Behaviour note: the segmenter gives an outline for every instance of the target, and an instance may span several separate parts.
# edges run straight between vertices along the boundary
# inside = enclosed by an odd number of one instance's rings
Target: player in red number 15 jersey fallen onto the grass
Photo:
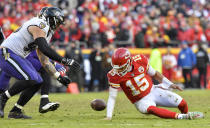
[[[113,69],[107,74],[110,88],[105,119],[112,119],[117,88],[119,87],[141,113],[171,119],[204,117],[201,112],[188,112],[186,101],[176,93],[169,91],[169,88],[180,91],[182,89],[155,71],[144,55],[131,56],[128,49],[118,48],[112,55],[111,64]],[[151,78],[158,80],[160,84],[153,85]],[[181,113],[156,106],[177,107]]]

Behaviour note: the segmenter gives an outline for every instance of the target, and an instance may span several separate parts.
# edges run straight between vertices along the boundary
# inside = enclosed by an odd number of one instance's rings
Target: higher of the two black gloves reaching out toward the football
[[[63,58],[61,63],[64,64],[65,66],[69,66],[69,68],[74,71],[80,70],[80,64],[74,59]]]

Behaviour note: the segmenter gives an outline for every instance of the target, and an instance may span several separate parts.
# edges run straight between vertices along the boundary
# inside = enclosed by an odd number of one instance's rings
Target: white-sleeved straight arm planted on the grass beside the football
[[[111,120],[112,119],[112,114],[114,111],[114,105],[117,97],[117,89],[113,87],[109,87],[109,98],[107,101],[107,112],[106,112],[106,119]]]

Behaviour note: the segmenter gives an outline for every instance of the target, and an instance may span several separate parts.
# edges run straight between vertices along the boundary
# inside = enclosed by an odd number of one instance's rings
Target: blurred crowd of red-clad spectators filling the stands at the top
[[[72,0],[74,1],[74,0]],[[133,47],[178,46],[210,42],[210,2],[207,0],[68,0],[52,4],[63,9],[66,25],[54,35],[60,45],[81,41],[92,48],[126,42]],[[78,1],[77,1],[78,2]],[[8,36],[23,22],[37,15],[50,0],[0,0],[0,25]]]

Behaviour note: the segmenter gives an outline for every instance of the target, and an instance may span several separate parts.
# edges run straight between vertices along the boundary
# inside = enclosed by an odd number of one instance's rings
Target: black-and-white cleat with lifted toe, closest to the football
[[[59,106],[60,106],[60,104],[59,103],[47,103],[47,104],[45,104],[44,106],[40,106],[39,107],[39,112],[40,113],[46,113],[46,112],[48,112],[48,111],[55,111],[56,109],[58,109],[59,108]]]

